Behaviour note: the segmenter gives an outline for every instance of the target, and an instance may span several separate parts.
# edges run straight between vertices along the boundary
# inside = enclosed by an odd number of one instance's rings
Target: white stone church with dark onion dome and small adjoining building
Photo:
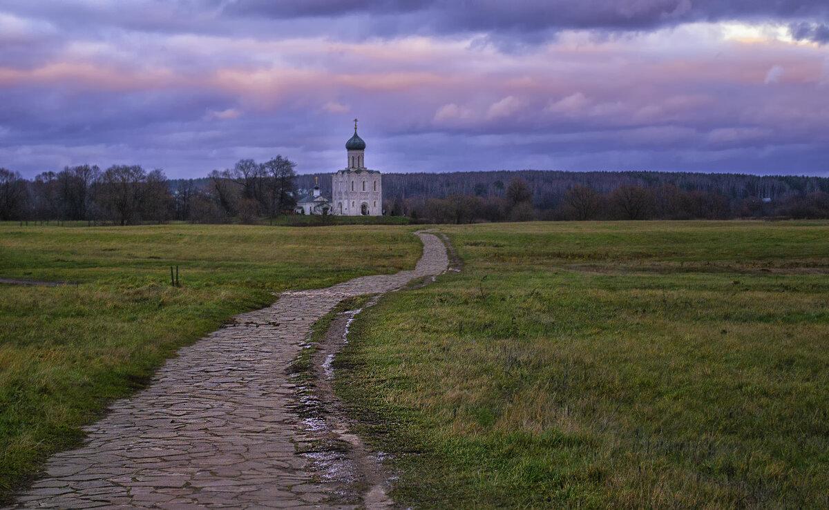
[[[379,171],[366,168],[366,142],[357,135],[346,142],[348,166],[332,176],[331,200],[320,195],[319,185],[313,193],[297,200],[296,214],[338,214],[342,216],[380,216],[383,214],[383,181]]]

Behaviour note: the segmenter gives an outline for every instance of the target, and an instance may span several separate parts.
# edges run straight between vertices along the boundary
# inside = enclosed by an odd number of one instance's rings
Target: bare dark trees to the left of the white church
[[[293,213],[296,163],[282,156],[238,161],[206,178],[168,180],[141,166],[66,166],[32,180],[0,168],[0,220],[81,220],[90,224],[253,222]]]

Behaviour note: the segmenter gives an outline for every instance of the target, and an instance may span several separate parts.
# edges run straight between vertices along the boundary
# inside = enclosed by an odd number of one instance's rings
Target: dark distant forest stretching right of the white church
[[[829,179],[652,171],[384,174],[383,199],[387,214],[434,223],[829,218]]]

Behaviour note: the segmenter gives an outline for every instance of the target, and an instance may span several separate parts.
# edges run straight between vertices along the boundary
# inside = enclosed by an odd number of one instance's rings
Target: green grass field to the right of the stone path
[[[337,391],[417,508],[825,508],[829,223],[444,228]]]

